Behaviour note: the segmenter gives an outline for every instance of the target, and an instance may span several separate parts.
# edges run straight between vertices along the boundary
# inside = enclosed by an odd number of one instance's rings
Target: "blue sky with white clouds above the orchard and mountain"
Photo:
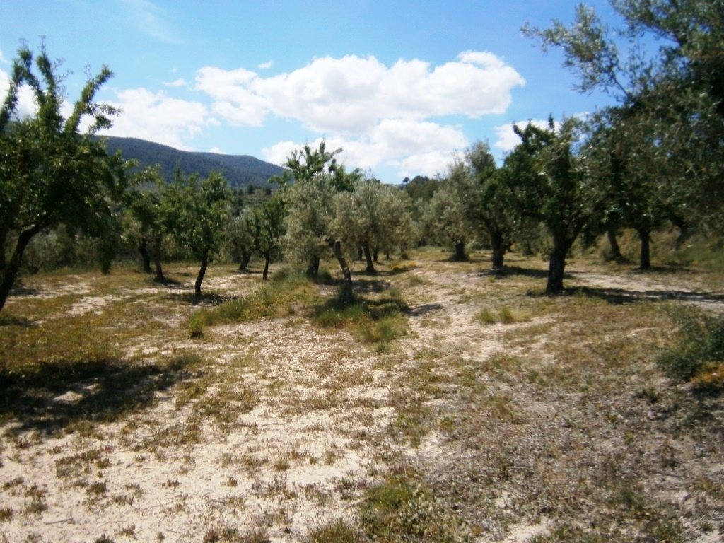
[[[399,183],[444,175],[477,140],[502,159],[513,123],[610,103],[521,34],[570,23],[578,1],[0,0],[0,96],[22,43],[45,43],[69,104],[88,74],[114,72],[96,95],[122,110],[105,135],[280,165],[324,140]]]

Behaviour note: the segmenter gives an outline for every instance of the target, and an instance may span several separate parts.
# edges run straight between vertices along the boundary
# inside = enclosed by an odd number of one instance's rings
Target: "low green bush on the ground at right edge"
[[[724,316],[710,315],[691,306],[675,308],[678,327],[674,344],[663,350],[658,363],[675,379],[689,380],[697,374],[712,374],[724,362]],[[707,383],[706,376],[699,382]],[[710,382],[715,384],[715,380]],[[718,386],[718,385],[717,385]]]

